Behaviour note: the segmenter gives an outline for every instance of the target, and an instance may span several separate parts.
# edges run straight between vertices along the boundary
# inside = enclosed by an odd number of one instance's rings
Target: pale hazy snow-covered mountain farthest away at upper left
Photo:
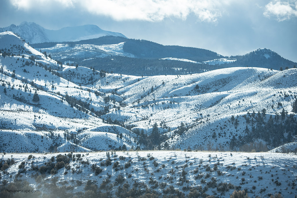
[[[29,43],[80,41],[101,36],[121,36],[126,38],[121,33],[105,31],[97,25],[81,25],[65,27],[59,30],[48,30],[36,23],[24,21],[18,26],[12,24],[8,27],[0,28],[0,32],[5,31],[15,32]]]

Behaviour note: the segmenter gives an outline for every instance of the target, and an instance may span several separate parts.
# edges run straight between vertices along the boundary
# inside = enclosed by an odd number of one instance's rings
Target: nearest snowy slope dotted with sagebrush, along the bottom
[[[18,195],[3,190],[13,188],[39,190],[38,197],[230,197],[239,190],[249,197],[297,194],[297,159],[290,154],[127,151],[6,154],[0,160],[12,158],[1,176],[8,183],[1,186],[1,197]]]

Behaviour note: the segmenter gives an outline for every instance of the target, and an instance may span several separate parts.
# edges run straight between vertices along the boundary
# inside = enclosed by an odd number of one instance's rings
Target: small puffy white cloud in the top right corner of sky
[[[278,21],[297,17],[297,0],[294,1],[271,1],[265,6],[264,16],[275,16]]]

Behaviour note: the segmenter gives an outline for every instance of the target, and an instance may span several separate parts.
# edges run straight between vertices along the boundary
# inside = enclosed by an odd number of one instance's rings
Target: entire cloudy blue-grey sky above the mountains
[[[0,27],[94,24],[128,38],[242,55],[269,48],[297,62],[297,0],[0,0]]]

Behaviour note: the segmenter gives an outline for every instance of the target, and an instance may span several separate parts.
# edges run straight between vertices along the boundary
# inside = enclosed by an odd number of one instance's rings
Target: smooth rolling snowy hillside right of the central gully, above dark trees
[[[283,108],[292,111],[296,75],[297,69],[226,68],[185,76],[149,76],[135,82],[134,76],[129,81],[128,76],[108,74],[105,77],[108,84],[101,80],[95,86],[102,92],[114,87],[128,104],[120,110],[111,109],[102,116],[105,119],[119,120],[135,130],[148,132],[157,123],[160,132],[168,136],[169,147],[207,149],[211,142],[212,149],[228,150],[234,133],[244,137],[246,125],[252,130],[252,124],[247,124],[243,117],[247,112],[257,113],[265,108],[264,119],[268,120]],[[125,84],[116,80],[124,77]],[[230,122],[232,115],[238,116],[238,126]],[[187,129],[178,135],[181,123]],[[212,138],[214,131],[223,136]]]

